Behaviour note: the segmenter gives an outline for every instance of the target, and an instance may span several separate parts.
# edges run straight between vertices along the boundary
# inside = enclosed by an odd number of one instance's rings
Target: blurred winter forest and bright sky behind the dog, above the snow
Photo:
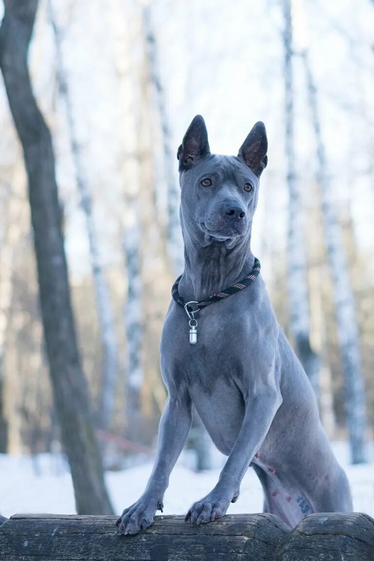
[[[176,153],[201,113],[215,153],[236,154],[265,122],[252,251],[329,437],[350,440],[352,461],[365,461],[374,2],[4,0],[0,9],[0,453],[62,447],[76,499],[80,438],[95,450],[97,440],[108,469],[152,454],[165,401],[160,331],[183,270]],[[62,315],[69,295],[75,328]],[[198,419],[188,445],[197,468],[209,467]],[[95,511],[83,503],[80,512]]]

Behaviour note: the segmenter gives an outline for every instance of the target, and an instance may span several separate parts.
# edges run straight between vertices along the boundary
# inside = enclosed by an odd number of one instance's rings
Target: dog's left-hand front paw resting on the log
[[[119,534],[138,534],[153,525],[157,510],[163,512],[161,500],[150,499],[147,496],[141,498],[131,507],[125,508],[116,521]]]

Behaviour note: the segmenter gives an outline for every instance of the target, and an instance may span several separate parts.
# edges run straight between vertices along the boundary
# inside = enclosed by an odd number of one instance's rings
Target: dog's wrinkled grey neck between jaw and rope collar
[[[250,274],[255,263],[250,242],[250,233],[232,248],[223,242],[202,246],[185,239],[184,272],[179,282],[184,301],[204,300]]]

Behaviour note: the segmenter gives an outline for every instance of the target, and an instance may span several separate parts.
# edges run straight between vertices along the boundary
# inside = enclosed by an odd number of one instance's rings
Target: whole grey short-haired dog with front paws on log
[[[251,273],[253,214],[267,164],[265,126],[253,126],[237,157],[210,153],[196,116],[178,149],[185,302],[208,298]],[[264,489],[264,510],[290,526],[312,512],[352,511],[347,476],[318,417],[310,382],[276,321],[258,276],[240,292],[200,310],[197,343],[188,317],[170,304],[161,338],[168,399],[153,472],[140,499],[117,520],[122,534],[149,527],[163,508],[169,475],[198,414],[227,462],[213,490],[186,515],[191,523],[223,516],[248,466]],[[194,324],[193,324],[194,325]]]

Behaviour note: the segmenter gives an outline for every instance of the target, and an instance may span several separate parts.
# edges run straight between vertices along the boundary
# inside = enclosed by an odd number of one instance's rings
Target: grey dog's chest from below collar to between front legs
[[[242,426],[246,396],[271,365],[265,348],[274,320],[248,306],[244,294],[235,295],[199,312],[192,345],[187,315],[177,307],[170,311],[161,343],[166,381],[177,390],[187,386],[213,442],[227,454]]]

